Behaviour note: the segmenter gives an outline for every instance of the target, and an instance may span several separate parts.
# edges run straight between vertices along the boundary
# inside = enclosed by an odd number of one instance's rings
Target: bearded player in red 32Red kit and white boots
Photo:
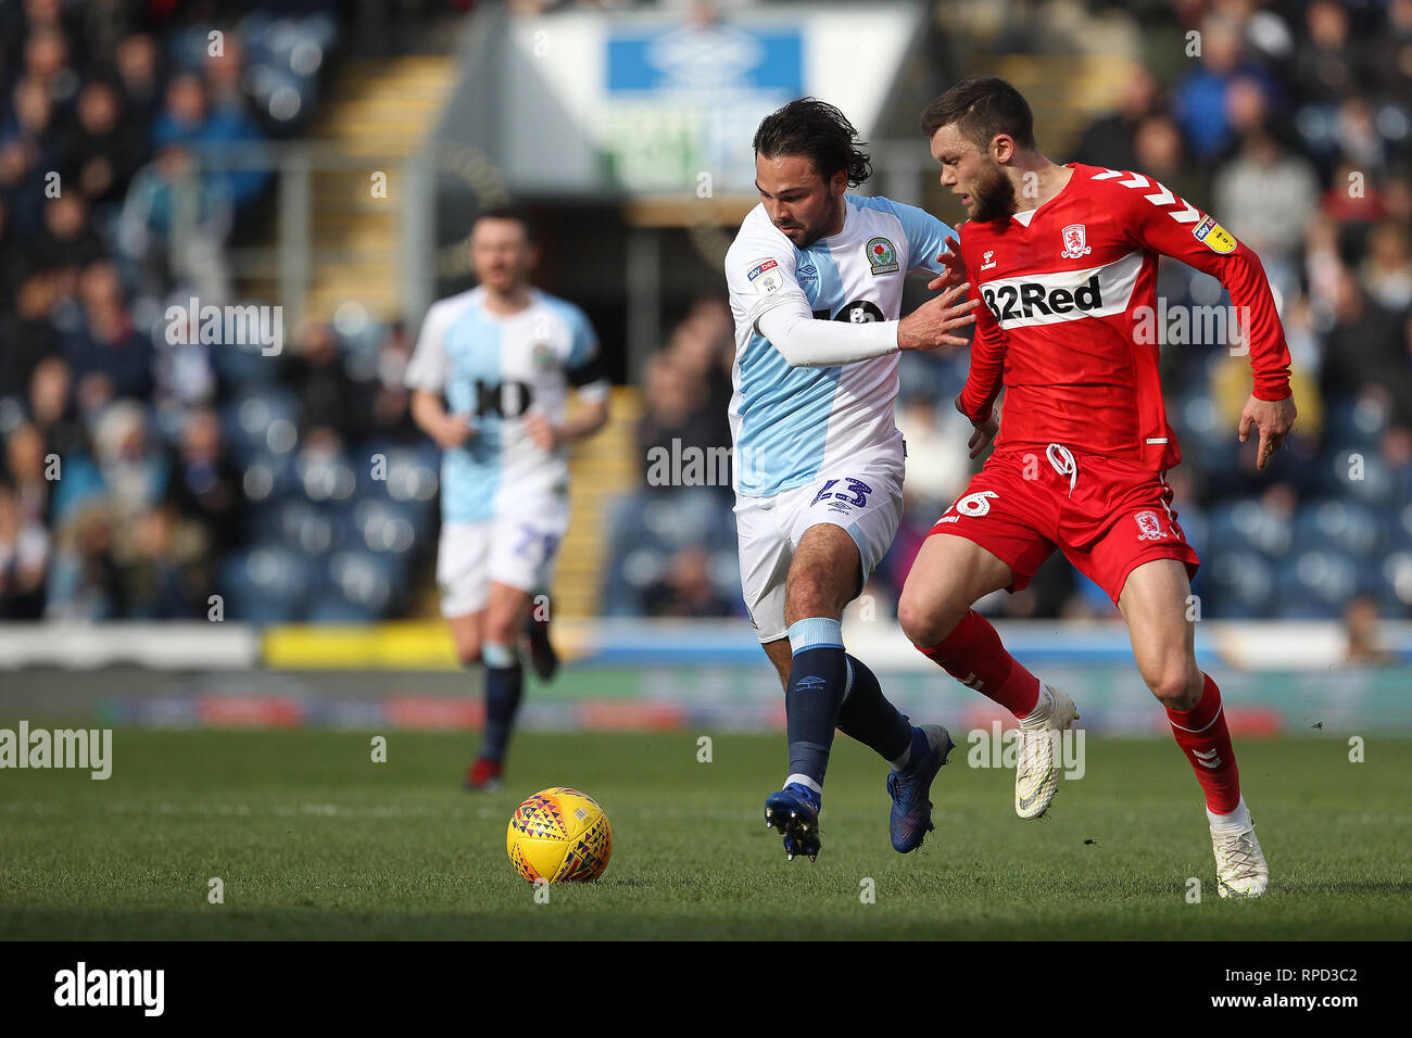
[[[912,643],[1019,719],[1015,811],[1053,799],[1053,743],[1073,700],[1014,660],[971,604],[1029,583],[1058,547],[1117,604],[1138,669],[1166,708],[1206,794],[1221,897],[1258,897],[1269,869],[1240,791],[1220,689],[1196,664],[1189,614],[1196,552],[1165,473],[1180,460],[1162,407],[1158,346],[1134,325],[1155,306],[1158,256],[1230,292],[1254,369],[1240,419],[1265,466],[1295,419],[1289,352],[1255,254],[1210,216],[1141,174],[1070,162],[1035,147],[1025,99],[990,76],[928,106],[922,131],[942,185],[970,213],[960,230],[976,311],[970,374],[956,407],[976,458],[1004,429],[966,493],[938,520],[898,603]],[[1147,308],[1147,309],[1144,309]]]

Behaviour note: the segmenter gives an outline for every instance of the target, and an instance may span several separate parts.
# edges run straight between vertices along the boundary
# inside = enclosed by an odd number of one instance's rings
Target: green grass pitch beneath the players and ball
[[[0,938],[1176,938],[1406,939],[1412,743],[1240,743],[1274,871],[1216,895],[1190,768],[1166,740],[1090,739],[1052,818],[1012,813],[1011,771],[966,747],[933,787],[938,829],[888,843],[887,767],[840,739],[816,863],[767,832],[782,736],[521,736],[510,788],[457,782],[473,737],[114,733],[113,777],[0,771]],[[514,806],[575,785],[607,809],[613,861],[548,904],[505,857]],[[1203,902],[1185,900],[1187,877]],[[225,904],[208,902],[208,880]],[[860,901],[864,878],[875,904]]]

